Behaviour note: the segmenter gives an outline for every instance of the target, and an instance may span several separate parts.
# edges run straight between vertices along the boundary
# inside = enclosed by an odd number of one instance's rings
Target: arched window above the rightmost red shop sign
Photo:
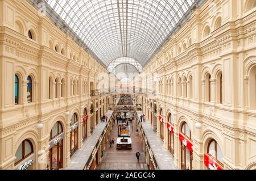
[[[207,154],[223,166],[223,154],[217,141],[211,140],[208,144]]]

